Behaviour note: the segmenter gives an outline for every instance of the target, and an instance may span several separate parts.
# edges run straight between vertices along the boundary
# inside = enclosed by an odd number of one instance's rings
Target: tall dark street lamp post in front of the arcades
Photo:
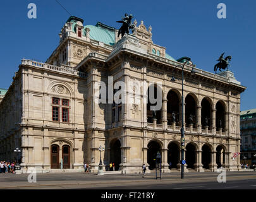
[[[184,150],[185,150],[185,135],[184,135],[184,114],[183,114],[183,107],[184,107],[184,98],[183,98],[183,94],[184,94],[184,90],[183,90],[183,80],[184,80],[184,66],[187,62],[191,62],[190,58],[188,58],[188,60],[183,64],[183,66],[181,66],[180,64],[178,64],[176,67],[180,66],[182,68],[182,95],[181,95],[181,179],[184,178]],[[193,63],[192,63],[192,67]],[[174,69],[175,69],[174,68]],[[195,73],[195,71],[192,68],[191,71],[192,74]],[[175,81],[174,76],[172,76],[171,81]]]

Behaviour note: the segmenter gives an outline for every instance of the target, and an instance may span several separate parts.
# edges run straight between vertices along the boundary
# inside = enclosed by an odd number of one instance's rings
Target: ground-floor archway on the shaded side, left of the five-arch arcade
[[[112,140],[110,143],[110,162],[114,163],[114,170],[119,170],[121,163],[121,143],[119,140]]]

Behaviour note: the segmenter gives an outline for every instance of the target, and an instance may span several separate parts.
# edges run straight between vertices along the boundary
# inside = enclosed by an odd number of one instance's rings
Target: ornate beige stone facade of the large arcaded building
[[[169,162],[171,169],[180,169],[181,68],[176,66],[183,64],[152,42],[151,27],[145,28],[143,21],[135,25],[133,35],[122,39],[114,30],[115,44],[107,45],[91,39],[92,30],[82,21],[70,20],[46,63],[23,59],[0,104],[1,159],[15,158],[18,146],[22,172],[59,169],[61,162],[64,169],[74,170],[82,170],[88,162],[91,172],[97,172],[103,146],[104,170],[115,162],[124,174],[138,173],[145,163],[150,172],[155,151],[161,152],[163,172],[170,172]],[[79,28],[86,32],[80,35]],[[231,157],[240,151],[240,93],[245,87],[234,82],[233,74],[224,77],[194,68],[192,75],[191,70],[190,65],[184,68],[186,166],[197,171],[238,170],[239,158]],[[176,81],[171,81],[173,75]],[[157,119],[143,102],[145,88],[126,92],[125,99],[135,103],[97,104],[97,85],[99,81],[110,85],[109,76],[113,84],[123,81],[126,86],[130,81],[161,82]],[[170,118],[173,109],[175,122]],[[188,122],[190,114],[193,122]]]

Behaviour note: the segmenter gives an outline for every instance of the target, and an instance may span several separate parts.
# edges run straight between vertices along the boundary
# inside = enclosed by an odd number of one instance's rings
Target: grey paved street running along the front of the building
[[[0,174],[0,189],[256,189],[256,172],[227,172],[226,183],[217,182],[217,172],[95,175],[82,173],[37,174],[29,183],[28,174]]]

